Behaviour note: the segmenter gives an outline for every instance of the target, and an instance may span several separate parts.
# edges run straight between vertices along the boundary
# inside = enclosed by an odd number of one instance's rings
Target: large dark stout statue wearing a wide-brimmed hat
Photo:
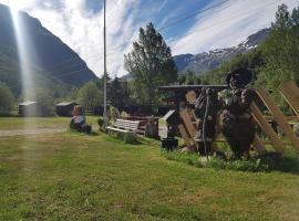
[[[255,138],[255,123],[250,115],[250,104],[255,92],[245,86],[251,81],[251,73],[238,69],[227,75],[229,92],[219,94],[221,104],[220,129],[226,137],[235,158],[249,155]]]

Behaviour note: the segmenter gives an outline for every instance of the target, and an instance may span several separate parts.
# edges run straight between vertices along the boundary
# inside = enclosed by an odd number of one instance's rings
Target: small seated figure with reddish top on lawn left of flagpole
[[[87,125],[85,123],[85,116],[83,115],[83,108],[80,105],[74,106],[73,118],[71,119],[70,128],[75,129],[78,131],[91,134],[91,125]]]

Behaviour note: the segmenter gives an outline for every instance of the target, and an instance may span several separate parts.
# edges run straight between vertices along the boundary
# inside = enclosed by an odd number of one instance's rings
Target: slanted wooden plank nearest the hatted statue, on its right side
[[[270,139],[271,145],[277,151],[283,152],[283,144],[279,139],[276,131],[272,129],[272,127],[268,124],[268,122],[264,118],[262,113],[258,108],[255,102],[250,105],[251,115],[259,125],[259,127],[262,129],[262,131],[267,135],[267,137]]]

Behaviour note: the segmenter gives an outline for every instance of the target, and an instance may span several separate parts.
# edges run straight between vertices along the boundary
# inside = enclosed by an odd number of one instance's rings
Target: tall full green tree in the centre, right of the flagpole
[[[157,86],[177,80],[171,48],[156,32],[153,23],[140,29],[138,41],[133,42],[132,52],[124,56],[124,67],[133,74],[136,98],[151,107],[158,102]]]

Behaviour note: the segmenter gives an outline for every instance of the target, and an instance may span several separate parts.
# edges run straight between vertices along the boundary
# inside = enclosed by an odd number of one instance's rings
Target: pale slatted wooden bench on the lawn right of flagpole
[[[136,134],[140,122],[127,119],[115,119],[112,126],[106,127],[111,131],[120,131],[126,134]]]

